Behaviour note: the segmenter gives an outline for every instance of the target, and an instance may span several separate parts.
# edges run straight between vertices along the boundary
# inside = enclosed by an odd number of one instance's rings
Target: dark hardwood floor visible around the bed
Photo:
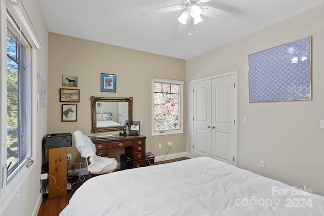
[[[165,160],[165,161],[160,161],[160,162],[154,162],[154,165],[158,164],[163,164],[163,163],[171,163],[175,161],[180,161],[180,160],[186,160],[189,159],[188,157],[181,157],[181,158],[176,158],[172,160]],[[86,180],[88,180],[88,175],[85,176]],[[70,198],[72,197],[73,193],[85,182],[81,181],[75,185],[72,186],[73,191],[68,190],[66,194],[59,196],[59,197],[54,197],[49,199],[48,195],[43,195],[43,200],[41,207],[39,207],[38,210],[38,216],[57,216],[59,213],[65,208],[65,206],[69,203]],[[75,183],[77,180],[72,180],[69,181],[70,183]]]

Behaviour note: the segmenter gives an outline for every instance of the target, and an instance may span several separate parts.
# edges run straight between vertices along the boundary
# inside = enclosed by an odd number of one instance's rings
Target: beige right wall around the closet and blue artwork
[[[191,81],[238,70],[237,165],[324,195],[324,5],[242,37],[187,61]],[[248,55],[312,36],[311,101],[249,103]],[[187,98],[187,151],[191,150],[191,98]],[[248,116],[249,122],[243,123]],[[265,168],[259,161],[265,161]]]

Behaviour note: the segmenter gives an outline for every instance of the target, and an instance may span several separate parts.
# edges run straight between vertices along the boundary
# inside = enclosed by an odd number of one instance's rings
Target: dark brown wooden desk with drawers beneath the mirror
[[[113,139],[91,139],[96,146],[98,156],[108,156],[108,151],[112,148],[125,148],[125,153],[133,159],[133,167],[146,166],[145,136],[114,136]]]

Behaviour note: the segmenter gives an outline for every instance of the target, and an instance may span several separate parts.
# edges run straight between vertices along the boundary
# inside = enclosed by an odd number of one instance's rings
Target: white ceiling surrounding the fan
[[[233,15],[229,22],[208,17],[178,30],[182,11],[140,16],[147,10],[178,6],[181,0],[38,0],[50,32],[188,60],[284,20],[324,0],[211,0]]]

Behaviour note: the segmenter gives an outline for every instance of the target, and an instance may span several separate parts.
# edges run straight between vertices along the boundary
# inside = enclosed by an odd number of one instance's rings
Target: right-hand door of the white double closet
[[[211,157],[236,165],[235,75],[212,79]]]

